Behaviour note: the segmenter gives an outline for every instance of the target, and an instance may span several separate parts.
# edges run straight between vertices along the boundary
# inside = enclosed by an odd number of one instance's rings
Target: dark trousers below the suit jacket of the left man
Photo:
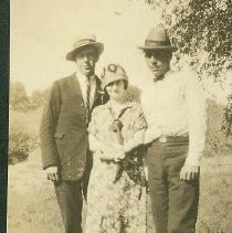
[[[82,179],[61,181],[55,184],[55,192],[65,233],[82,233]]]

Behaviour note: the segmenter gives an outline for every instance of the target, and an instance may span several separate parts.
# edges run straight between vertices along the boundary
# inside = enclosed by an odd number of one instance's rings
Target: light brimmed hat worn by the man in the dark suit
[[[84,46],[94,46],[97,49],[98,54],[101,54],[104,50],[104,45],[101,42],[96,41],[96,36],[94,34],[83,34],[81,35],[76,42],[73,44],[73,49],[66,54],[66,60],[75,61],[76,52]]]

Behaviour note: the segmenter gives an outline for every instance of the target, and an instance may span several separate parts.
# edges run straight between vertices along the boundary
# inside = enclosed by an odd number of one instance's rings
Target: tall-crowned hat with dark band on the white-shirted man
[[[145,40],[145,45],[138,46],[138,49],[177,51],[176,46],[171,46],[171,42],[166,30],[161,28],[152,28]]]

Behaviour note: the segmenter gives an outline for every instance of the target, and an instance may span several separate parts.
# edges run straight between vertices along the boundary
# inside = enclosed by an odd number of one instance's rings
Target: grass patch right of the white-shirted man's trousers
[[[203,158],[198,233],[232,232],[232,157]]]

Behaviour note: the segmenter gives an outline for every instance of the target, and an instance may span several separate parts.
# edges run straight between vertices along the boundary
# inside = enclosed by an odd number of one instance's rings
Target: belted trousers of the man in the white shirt
[[[156,233],[193,233],[199,179],[180,180],[188,144],[152,142],[147,153],[148,184]]]

